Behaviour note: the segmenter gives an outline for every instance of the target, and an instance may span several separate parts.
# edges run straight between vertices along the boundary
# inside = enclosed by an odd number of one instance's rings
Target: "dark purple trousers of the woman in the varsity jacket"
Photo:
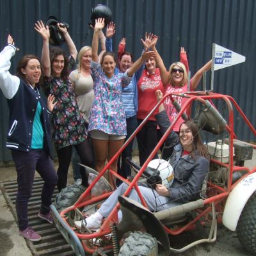
[[[40,208],[42,214],[48,214],[50,211],[52,193],[58,182],[58,176],[54,170],[53,162],[45,150],[31,150],[29,152],[12,150],[12,157],[18,183],[16,211],[19,229],[24,230],[28,227],[28,201],[31,196],[35,170],[44,180]]]

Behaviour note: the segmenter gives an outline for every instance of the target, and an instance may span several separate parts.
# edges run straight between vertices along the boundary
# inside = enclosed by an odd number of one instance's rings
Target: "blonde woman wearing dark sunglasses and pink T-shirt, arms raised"
[[[154,43],[152,44],[152,51],[155,51],[157,53],[157,65],[160,68],[160,74],[161,74],[161,80],[163,81],[165,91],[166,93],[176,93],[176,94],[182,94],[188,92],[188,67],[184,65],[184,63],[181,62],[175,62],[170,65],[169,70],[167,71],[164,67],[164,62],[161,58],[161,56],[158,54],[156,50],[156,40],[154,40]],[[182,52],[184,51],[184,48],[181,49]],[[186,52],[185,52],[186,53]],[[194,91],[196,87],[198,86],[200,79],[203,76],[203,73],[205,71],[208,71],[211,68],[212,61],[208,61],[202,68],[200,68],[196,74],[191,78],[190,80],[190,88],[189,91]],[[177,100],[178,104],[182,108],[188,98],[184,97],[173,97],[174,100]],[[166,113],[170,118],[170,121],[173,122],[178,115],[177,110],[173,107],[172,100],[167,98],[164,101],[164,108],[166,109]],[[189,111],[187,111],[189,114]],[[180,124],[184,122],[182,117],[177,120],[175,125],[173,126],[173,131],[178,132]]]

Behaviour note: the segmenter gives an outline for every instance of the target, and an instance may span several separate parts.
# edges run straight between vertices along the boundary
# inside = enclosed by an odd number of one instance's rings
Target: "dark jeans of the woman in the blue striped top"
[[[126,119],[126,127],[127,127],[127,136],[125,138],[125,141],[131,136],[131,134],[136,130],[138,127],[137,122],[137,116],[131,116]],[[131,175],[131,167],[129,164],[126,163],[125,158],[128,157],[129,159],[132,158],[132,146],[133,146],[133,140],[127,145],[127,147],[122,152],[122,156],[118,158],[118,170],[117,173],[124,177],[125,179],[127,176]],[[116,180],[116,184],[121,184],[121,180]]]

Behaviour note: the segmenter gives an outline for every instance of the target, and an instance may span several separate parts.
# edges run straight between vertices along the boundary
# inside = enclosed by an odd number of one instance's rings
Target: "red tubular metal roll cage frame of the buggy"
[[[143,125],[145,125],[148,118],[152,115],[152,113],[154,113],[155,109],[158,108],[159,105],[161,103],[163,103],[163,101],[167,97],[171,97],[171,99],[172,99],[173,96],[186,97],[186,98],[188,98],[188,101],[180,109],[177,117],[175,118],[173,123],[170,125],[170,127],[168,127],[167,131],[163,134],[161,140],[159,140],[159,142],[157,143],[154,150],[152,150],[150,156],[148,156],[148,159],[145,161],[143,166],[141,166],[141,169],[135,175],[134,179],[132,179],[130,182],[129,180],[124,179],[122,176],[118,175],[118,173],[115,173],[113,170],[110,170],[109,168],[110,168],[111,164],[120,156],[120,154],[122,154],[125,147],[127,147],[127,145],[131,142],[131,140],[133,140],[133,138],[136,136],[136,134],[141,130]],[[209,212],[215,211],[215,207],[217,207],[217,208],[221,207],[221,202],[223,202],[223,200],[225,200],[227,198],[230,191],[232,191],[232,188],[234,188],[234,186],[235,186],[235,184],[232,184],[233,172],[245,170],[246,174],[243,176],[243,178],[246,177],[247,175],[250,175],[253,172],[256,172],[256,167],[253,170],[249,170],[249,168],[246,168],[244,166],[243,167],[234,166],[233,140],[236,139],[236,134],[234,134],[234,110],[233,110],[232,104],[237,109],[237,111],[240,113],[240,115],[243,117],[244,122],[248,125],[250,130],[252,130],[254,135],[256,135],[255,128],[250,123],[248,118],[246,118],[243,111],[241,110],[241,108],[239,108],[238,104],[236,103],[236,101],[228,95],[222,95],[219,93],[212,93],[212,92],[189,92],[189,93],[183,93],[183,94],[168,93],[168,94],[164,95],[163,99],[161,99],[156,104],[156,106],[154,106],[154,108],[152,109],[152,111],[150,111],[148,116],[143,120],[143,122],[141,122],[141,124],[132,133],[132,135],[127,139],[127,141],[125,141],[124,145],[122,145],[122,147],[118,150],[118,152],[116,152],[115,156],[113,156],[112,159],[108,162],[108,164],[106,164],[106,166],[102,169],[102,171],[99,173],[99,175],[93,180],[92,184],[90,184],[90,186],[88,186],[88,188],[84,191],[83,195],[80,196],[80,198],[79,198],[79,200],[77,200],[76,204],[74,204],[60,212],[60,216],[61,216],[61,219],[63,220],[63,222],[66,225],[70,226],[70,224],[67,221],[67,217],[66,217],[66,214],[68,212],[70,212],[70,211],[76,212],[76,210],[80,207],[84,207],[85,205],[95,204],[96,202],[105,200],[106,198],[108,198],[109,195],[111,195],[112,192],[105,193],[100,196],[95,196],[94,198],[91,198],[91,196],[90,196],[90,192],[91,192],[93,186],[95,186],[95,184],[99,181],[100,177],[102,177],[102,175],[107,170],[109,170],[109,172],[112,175],[115,175],[117,179],[120,179],[120,180],[122,180],[122,182],[125,182],[126,184],[128,184],[128,188],[125,191],[124,196],[128,196],[129,193],[131,192],[131,189],[134,188],[134,189],[136,189],[138,195],[140,196],[141,204],[144,207],[147,207],[147,204],[146,204],[145,200],[143,199],[143,196],[140,193],[140,189],[138,188],[138,180],[140,179],[140,177],[141,177],[142,173],[144,172],[145,168],[147,167],[148,163],[152,160],[152,158],[155,156],[155,154],[157,153],[157,151],[159,150],[161,145],[164,143],[164,141],[168,137],[168,134],[170,134],[170,132],[172,131],[173,125],[175,125],[175,123],[180,118],[180,116],[182,116],[183,113],[185,113],[189,104],[191,104],[193,101],[199,101],[202,104],[206,105],[206,101],[209,100],[211,102],[212,106],[214,106],[214,104],[212,103],[212,100],[214,100],[214,99],[224,100],[228,107],[228,114],[229,114],[228,115],[228,123],[225,125],[225,129],[229,134],[229,162],[228,162],[228,164],[225,164],[225,163],[221,163],[220,161],[218,161],[216,159],[211,159],[211,161],[213,163],[220,164],[221,166],[225,166],[227,168],[227,170],[228,170],[227,187],[222,188],[221,186],[213,184],[211,181],[208,180],[207,187],[209,187],[210,189],[214,189],[215,191],[217,191],[217,193],[215,193],[215,195],[213,195],[213,196],[209,196],[205,200],[202,200],[203,204],[200,207],[204,207],[204,209],[202,209],[202,211],[198,209],[198,212],[197,212],[198,215],[196,216],[196,218],[194,218],[192,221],[190,221],[184,227],[172,229],[172,228],[168,228],[168,227],[164,226],[164,230],[166,231],[167,234],[172,234],[172,235],[180,234],[180,233],[184,232],[185,230],[189,230],[191,227],[193,227],[193,225],[195,225],[196,221],[200,220],[202,217],[204,217]],[[214,108],[215,108],[215,106],[214,106]],[[256,145],[251,145],[251,146],[253,148],[256,148]],[[241,177],[241,179],[242,179],[242,177]],[[239,180],[241,180],[241,179],[239,179]],[[239,180],[237,180],[236,183],[239,182]],[[191,203],[193,203],[193,202],[191,202]],[[214,207],[214,205],[215,205],[215,207]],[[214,207],[214,209],[212,209],[213,207]],[[114,209],[109,214],[109,216],[104,220],[102,227],[97,232],[88,233],[88,234],[80,234],[79,232],[76,232],[76,228],[74,228],[74,227],[70,227],[70,228],[72,228],[72,230],[75,232],[76,236],[82,241],[88,240],[88,239],[93,239],[95,237],[105,236],[106,234],[109,234],[109,232],[111,232],[110,231],[111,225],[113,225],[113,223],[115,225],[116,225],[116,223],[118,223],[117,212],[119,209],[120,209],[120,203],[118,202],[116,204],[116,206],[114,207]],[[196,209],[196,207],[195,207],[195,209]],[[172,211],[172,209],[170,209],[170,211]],[[217,209],[217,211],[218,211],[218,209]],[[82,243],[82,244],[83,244],[84,250],[88,253],[95,252],[95,248],[97,248],[97,246],[94,248],[89,248],[88,246],[86,246],[86,244],[84,244],[84,243]],[[109,250],[111,248],[112,248],[111,245],[107,245],[104,247],[104,250]]]

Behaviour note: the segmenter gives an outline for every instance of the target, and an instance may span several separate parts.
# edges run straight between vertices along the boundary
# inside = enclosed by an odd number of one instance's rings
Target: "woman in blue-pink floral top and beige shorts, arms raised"
[[[132,75],[154,52],[145,51],[125,73],[115,74],[116,60],[113,52],[105,52],[99,63],[99,33],[104,28],[104,19],[95,22],[92,40],[91,73],[93,79],[94,100],[90,113],[89,127],[92,145],[95,151],[95,169],[100,172],[106,159],[111,159],[122,147],[126,136],[125,112],[122,104],[122,87],[127,86]],[[117,159],[111,165],[117,172]],[[115,178],[109,175],[109,182],[115,188]]]

